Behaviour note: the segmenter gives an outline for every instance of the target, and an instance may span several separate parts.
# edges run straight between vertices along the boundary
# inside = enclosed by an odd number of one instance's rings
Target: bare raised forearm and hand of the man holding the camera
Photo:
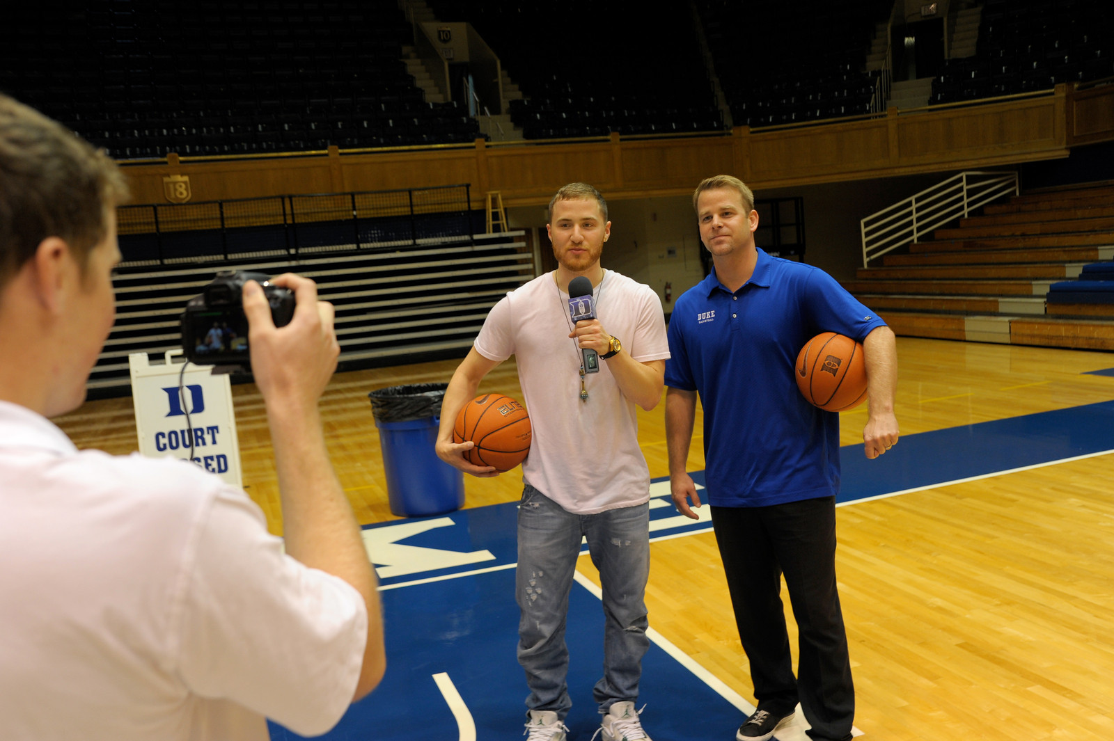
[[[255,383],[263,394],[274,446],[286,553],[351,584],[368,609],[363,666],[353,701],[371,692],[387,668],[375,573],[360,526],[325,446],[317,401],[336,368],[340,347],[333,307],[317,302],[312,280],[283,275],[271,281],[294,292],[291,323],[276,329],[262,288],[244,286],[244,313]]]

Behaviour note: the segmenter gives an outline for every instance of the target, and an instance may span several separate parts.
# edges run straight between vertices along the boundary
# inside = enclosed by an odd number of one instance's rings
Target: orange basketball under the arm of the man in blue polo
[[[862,344],[834,332],[822,332],[797,356],[797,387],[825,412],[847,412],[867,398],[867,364]]]

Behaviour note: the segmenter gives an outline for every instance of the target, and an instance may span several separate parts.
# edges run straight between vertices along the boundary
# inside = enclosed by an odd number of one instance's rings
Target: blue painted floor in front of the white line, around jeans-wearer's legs
[[[467,738],[434,680],[439,674],[448,675],[472,718],[475,735],[470,738],[519,738],[526,722],[527,690],[515,660],[518,607],[514,594],[514,570],[384,592],[390,635],[387,675],[324,738]],[[599,601],[578,585],[569,599],[568,634],[573,710],[565,723],[570,740],[587,741],[599,728],[592,686],[599,679],[604,631]],[[687,672],[678,671],[676,662],[656,645],[644,659],[643,672],[646,727],[653,729],[654,739],[719,739],[724,729],[739,724],[740,711],[691,673],[684,676]],[[678,712],[682,705],[701,708],[701,712]],[[272,739],[294,738],[301,737],[272,730]]]

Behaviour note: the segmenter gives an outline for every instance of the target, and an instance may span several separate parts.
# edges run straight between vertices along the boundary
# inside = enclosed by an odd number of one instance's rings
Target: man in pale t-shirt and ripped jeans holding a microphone
[[[465,460],[472,443],[455,444],[452,426],[483,376],[515,355],[532,427],[522,463],[516,576],[530,741],[563,741],[568,730],[565,616],[582,537],[603,583],[604,676],[593,690],[603,738],[648,739],[635,709],[649,645],[643,599],[649,471],[638,447],[636,406],[648,411],[661,401],[670,352],[657,295],[599,264],[610,227],[595,188],[574,182],[557,191],[546,227],[557,269],[491,309],[441,406],[438,455],[467,473],[497,475]],[[568,284],[577,276],[590,280],[598,318],[574,325]],[[582,348],[598,353],[598,373],[585,372]]]

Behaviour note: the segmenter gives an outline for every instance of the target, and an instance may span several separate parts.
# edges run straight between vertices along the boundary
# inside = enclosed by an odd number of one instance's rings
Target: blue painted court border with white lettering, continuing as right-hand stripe
[[[842,451],[841,503],[1114,452],[1114,402],[951,427],[901,438],[868,461],[860,445]],[[703,485],[703,473],[694,474]],[[711,530],[677,514],[667,480],[651,485],[651,539]],[[387,676],[325,739],[517,738],[527,689],[515,659],[517,503],[372,525],[364,542],[380,574],[388,635]],[[653,579],[653,576],[651,576]],[[582,580],[583,581],[583,580]],[[727,596],[724,595],[724,600]],[[651,628],[654,615],[651,614]],[[589,585],[575,583],[567,641],[570,741],[598,728],[592,686],[603,662],[603,613]],[[721,740],[749,705],[664,639],[653,634],[639,705],[655,741]],[[296,739],[272,725],[274,741]]]

